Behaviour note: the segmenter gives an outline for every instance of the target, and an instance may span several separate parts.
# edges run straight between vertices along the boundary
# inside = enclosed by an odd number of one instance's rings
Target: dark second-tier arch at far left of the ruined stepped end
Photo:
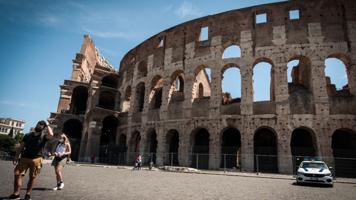
[[[73,89],[72,99],[70,100],[69,114],[85,115],[87,110],[88,88],[78,86]]]

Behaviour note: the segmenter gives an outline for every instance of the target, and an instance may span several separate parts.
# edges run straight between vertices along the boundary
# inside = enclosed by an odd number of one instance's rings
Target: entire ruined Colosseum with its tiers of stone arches
[[[100,163],[132,164],[141,153],[155,166],[293,174],[303,157],[323,157],[336,175],[356,177],[355,6],[291,0],[201,17],[143,41],[119,70],[84,35],[48,121],[71,138],[74,161],[95,153]],[[241,56],[224,58],[230,46]],[[325,76],[327,58],[345,65],[343,88]],[[254,101],[261,62],[271,65],[269,101]],[[240,98],[223,93],[229,68],[240,70]]]

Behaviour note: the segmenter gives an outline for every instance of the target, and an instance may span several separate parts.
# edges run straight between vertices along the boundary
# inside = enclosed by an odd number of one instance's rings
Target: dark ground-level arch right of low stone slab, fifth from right
[[[193,168],[209,169],[209,132],[204,128],[195,133],[193,154],[195,154],[192,157]]]

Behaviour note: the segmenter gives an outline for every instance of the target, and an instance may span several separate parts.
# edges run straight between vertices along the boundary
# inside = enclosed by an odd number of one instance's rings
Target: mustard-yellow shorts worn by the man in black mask
[[[41,171],[42,157],[40,158],[21,158],[19,164],[15,167],[15,175],[24,176],[27,169],[30,168],[30,177],[36,177]]]

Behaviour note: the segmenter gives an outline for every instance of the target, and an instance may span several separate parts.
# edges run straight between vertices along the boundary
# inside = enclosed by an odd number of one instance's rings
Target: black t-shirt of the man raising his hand
[[[39,158],[45,153],[45,145],[48,139],[47,133],[41,133],[35,136],[35,132],[26,133],[22,138],[22,142],[26,142],[25,150],[21,154],[21,158]]]

